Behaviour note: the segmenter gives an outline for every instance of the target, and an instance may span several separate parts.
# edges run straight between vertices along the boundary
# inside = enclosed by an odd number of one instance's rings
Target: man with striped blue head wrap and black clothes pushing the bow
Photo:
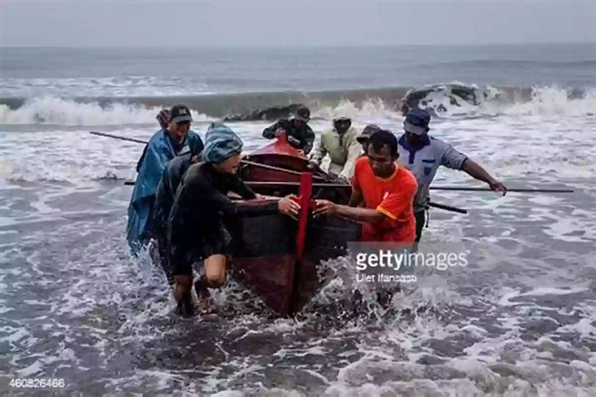
[[[250,206],[238,205],[228,198],[229,192],[242,199],[257,198],[236,175],[242,148],[242,140],[231,129],[212,123],[205,135],[201,162],[188,168],[176,192],[167,221],[167,240],[174,297],[181,314],[194,312],[193,264],[203,262],[203,274],[195,284],[201,303],[211,303],[207,287],[224,285],[231,254],[231,236],[226,226],[229,220],[276,212],[298,214],[300,206],[291,195],[277,202]]]

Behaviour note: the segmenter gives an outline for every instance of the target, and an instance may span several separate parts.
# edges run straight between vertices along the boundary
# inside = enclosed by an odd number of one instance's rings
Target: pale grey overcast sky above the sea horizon
[[[596,0],[0,0],[1,46],[596,42]]]

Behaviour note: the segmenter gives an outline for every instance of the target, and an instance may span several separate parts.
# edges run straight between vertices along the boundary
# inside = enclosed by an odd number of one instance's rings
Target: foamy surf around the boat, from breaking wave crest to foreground
[[[6,380],[63,378],[66,390],[91,394],[594,395],[594,92],[570,99],[544,87],[526,102],[495,97],[459,107],[433,98],[447,111],[433,119],[432,134],[508,186],[576,193],[433,193],[433,201],[470,213],[433,211],[423,239],[465,243],[466,267],[425,270],[415,285],[402,285],[389,311],[365,294],[355,316],[347,304],[353,263],[337,258],[322,264],[336,279],[294,319],[276,318],[234,282],[216,293],[221,316],[177,318],[160,270],[147,255],[129,257],[131,188],[122,180],[134,177],[142,145],[81,126],[148,139],[156,109],[48,98],[4,108]],[[337,115],[396,133],[403,120],[383,101],[323,104],[313,115],[317,131]],[[207,117],[193,117],[203,135]],[[266,123],[230,126],[247,150],[265,143]],[[477,186],[446,170],[436,183]]]

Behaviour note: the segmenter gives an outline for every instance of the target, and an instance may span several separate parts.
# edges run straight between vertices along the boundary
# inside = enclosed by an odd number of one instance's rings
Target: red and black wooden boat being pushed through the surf
[[[306,165],[306,157],[283,136],[245,157],[240,170],[245,182],[261,194],[297,193],[302,210],[298,221],[276,214],[237,219],[229,228],[232,274],[280,315],[296,314],[330,282],[321,261],[346,255],[347,243],[359,240],[362,232],[361,224],[351,220],[312,217],[315,190],[317,198],[343,196],[347,201],[349,189]]]

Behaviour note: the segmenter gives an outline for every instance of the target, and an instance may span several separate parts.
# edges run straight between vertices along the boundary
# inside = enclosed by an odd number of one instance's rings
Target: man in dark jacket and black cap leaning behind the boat
[[[296,117],[291,120],[282,118],[271,127],[263,130],[263,137],[274,139],[280,130],[284,130],[290,145],[308,155],[315,142],[315,133],[308,125],[309,121],[311,121],[311,111],[305,106],[300,107],[296,110]]]

